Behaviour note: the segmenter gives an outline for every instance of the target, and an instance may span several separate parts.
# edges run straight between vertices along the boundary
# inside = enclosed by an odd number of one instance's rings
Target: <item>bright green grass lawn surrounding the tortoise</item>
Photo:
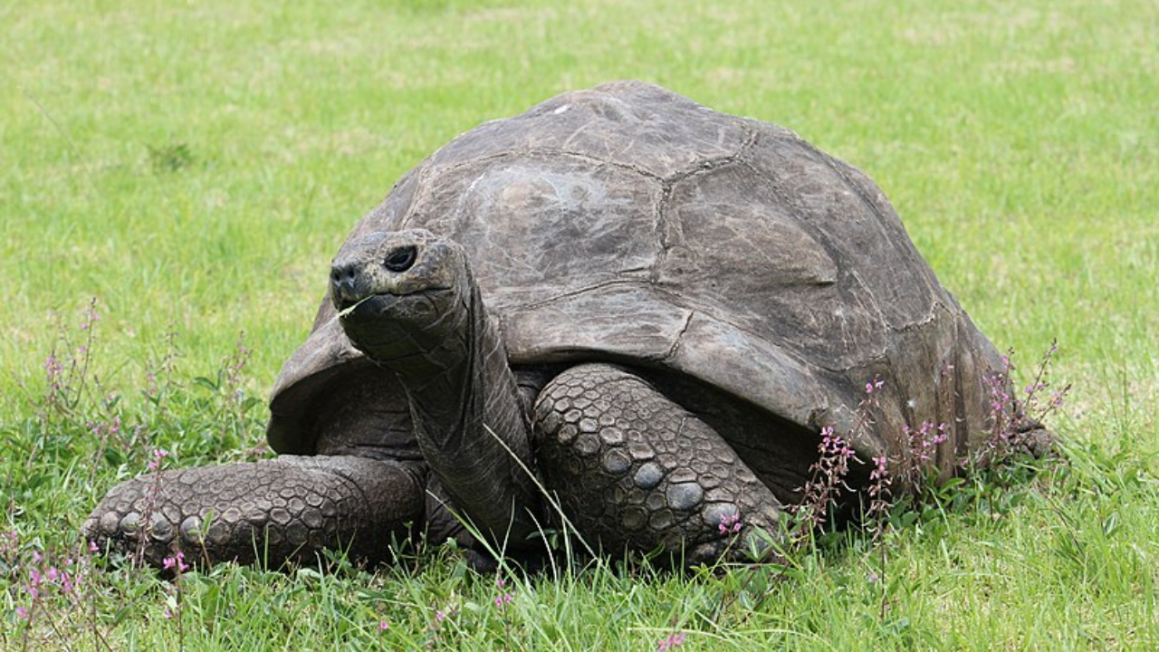
[[[639,650],[675,630],[684,649],[1159,647],[1154,2],[81,1],[0,5],[0,527],[20,536],[0,548],[0,649],[24,645],[32,551],[63,556],[153,445],[181,465],[257,455],[263,408],[232,392],[265,397],[395,179],[479,122],[617,78],[868,172],[999,346],[1028,368],[1058,338],[1070,464],[978,480],[876,550],[838,536],[759,604],[763,574],[612,568],[512,579],[498,610],[493,579],[447,556],[192,574],[178,629],[172,585],[116,570],[88,575],[82,608],[45,589],[30,649]],[[94,296],[99,384],[48,410],[42,364],[75,352]],[[242,332],[253,355],[218,383]],[[85,427],[116,415],[108,447]]]

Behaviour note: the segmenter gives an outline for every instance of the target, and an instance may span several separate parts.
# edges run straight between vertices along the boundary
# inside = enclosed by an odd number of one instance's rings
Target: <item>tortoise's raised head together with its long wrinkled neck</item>
[[[330,296],[351,343],[401,381],[454,506],[495,546],[525,545],[540,504],[531,425],[462,247],[422,230],[348,242]]]

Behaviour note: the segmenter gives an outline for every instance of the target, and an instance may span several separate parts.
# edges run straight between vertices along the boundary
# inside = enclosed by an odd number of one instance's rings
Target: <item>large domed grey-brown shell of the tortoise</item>
[[[348,241],[415,227],[466,248],[516,369],[639,364],[843,433],[877,377],[859,456],[898,454],[907,423],[945,422],[943,470],[986,427],[993,345],[881,189],[787,129],[635,81],[566,93],[435,152]],[[276,382],[275,450],[314,452],[335,400],[406,411],[327,299]]]

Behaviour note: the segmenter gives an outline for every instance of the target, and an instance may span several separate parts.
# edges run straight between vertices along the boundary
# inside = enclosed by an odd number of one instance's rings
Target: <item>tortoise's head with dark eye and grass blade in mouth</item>
[[[458,244],[425,230],[348,242],[330,268],[330,299],[355,348],[406,372],[462,355],[474,283]]]

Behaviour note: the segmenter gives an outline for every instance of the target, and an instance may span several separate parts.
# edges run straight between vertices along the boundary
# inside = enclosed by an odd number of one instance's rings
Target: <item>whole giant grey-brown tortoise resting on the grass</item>
[[[612,82],[455,138],[355,227],[272,391],[279,457],[130,480],[83,530],[152,563],[381,559],[420,533],[526,551],[559,510],[712,560],[722,522],[800,501],[826,427],[869,461],[945,422],[948,472],[999,364],[865,174]]]

